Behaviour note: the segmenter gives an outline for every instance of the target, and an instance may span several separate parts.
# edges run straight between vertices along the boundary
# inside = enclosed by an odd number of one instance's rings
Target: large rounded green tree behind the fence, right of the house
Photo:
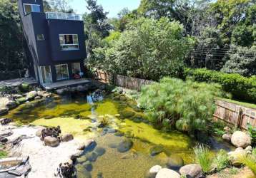
[[[118,40],[94,50],[101,68],[111,73],[158,80],[180,76],[192,39],[182,36],[183,26],[167,18],[141,18],[127,25]]]

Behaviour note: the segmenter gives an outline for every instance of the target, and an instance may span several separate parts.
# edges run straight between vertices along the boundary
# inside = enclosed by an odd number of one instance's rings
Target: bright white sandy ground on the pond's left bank
[[[59,147],[46,147],[44,142],[35,135],[37,128],[1,126],[0,132],[11,129],[14,134],[7,137],[10,140],[21,135],[30,137],[22,140],[19,147],[12,148],[11,155],[13,157],[30,157],[29,162],[32,168],[28,177],[52,178],[61,162],[67,161],[70,156],[79,152],[77,148],[80,143],[78,140],[72,140],[70,142],[61,142]]]

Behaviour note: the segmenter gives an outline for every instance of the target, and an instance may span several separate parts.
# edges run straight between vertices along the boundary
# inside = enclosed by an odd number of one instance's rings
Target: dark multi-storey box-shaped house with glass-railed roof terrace
[[[44,12],[42,0],[19,0],[29,73],[41,85],[76,78],[84,71],[84,22],[77,14]]]

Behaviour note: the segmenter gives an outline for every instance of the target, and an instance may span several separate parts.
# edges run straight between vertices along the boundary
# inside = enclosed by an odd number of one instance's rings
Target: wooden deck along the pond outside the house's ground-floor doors
[[[77,85],[83,85],[86,83],[91,83],[90,80],[87,79],[77,79],[77,80],[65,80],[61,82],[56,82],[56,83],[51,83],[49,85],[44,85],[43,87],[46,90],[53,90],[53,89],[58,89],[58,88],[65,88],[65,87],[72,87],[72,86],[77,86]]]

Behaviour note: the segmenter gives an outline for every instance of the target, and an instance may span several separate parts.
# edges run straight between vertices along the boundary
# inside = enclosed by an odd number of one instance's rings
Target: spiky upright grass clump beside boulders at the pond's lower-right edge
[[[195,159],[197,164],[200,164],[202,171],[205,174],[210,173],[212,169],[212,155],[209,147],[198,144],[194,147]]]

